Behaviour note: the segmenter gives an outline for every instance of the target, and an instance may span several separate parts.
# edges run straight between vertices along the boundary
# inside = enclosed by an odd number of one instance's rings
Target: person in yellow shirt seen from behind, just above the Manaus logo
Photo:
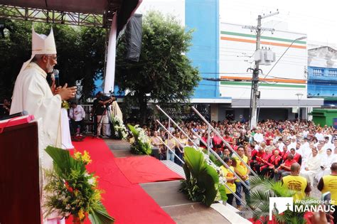
[[[306,196],[309,196],[311,191],[310,184],[306,181],[306,178],[299,176],[301,166],[298,163],[291,164],[290,175],[282,178],[282,183],[289,190],[296,191],[293,198],[295,200],[302,200]]]

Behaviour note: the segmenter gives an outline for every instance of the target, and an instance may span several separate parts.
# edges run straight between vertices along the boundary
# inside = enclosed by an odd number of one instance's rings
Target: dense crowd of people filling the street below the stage
[[[197,145],[206,149],[204,142],[209,142],[210,148],[222,157],[228,166],[233,167],[232,171],[235,171],[247,186],[250,170],[245,164],[242,166],[242,161],[237,156],[240,156],[256,174],[283,181],[286,185],[291,183],[292,176],[298,176],[296,179],[301,183],[301,186],[296,187],[301,191],[298,198],[309,195],[310,188],[316,181],[319,181],[319,190],[322,190],[321,181],[331,174],[335,175],[331,179],[337,183],[337,129],[333,127],[322,127],[305,120],[266,120],[259,122],[254,129],[250,129],[247,122],[230,122],[227,119],[223,122],[211,122],[212,127],[228,142],[228,146],[215,132],[210,132],[208,137],[208,126],[203,122],[181,122],[179,128],[169,125],[167,121],[163,124],[175,138],[156,123],[143,127],[150,137],[151,144],[159,147],[161,159],[171,159],[181,164],[166,146],[183,159],[184,146]],[[188,134],[191,141],[182,131]],[[225,174],[232,173],[231,169],[225,166],[222,169]],[[228,175],[228,183],[239,197],[243,188],[249,204],[250,189],[245,188],[232,174]],[[333,198],[337,201],[337,184],[333,186]],[[232,204],[232,199],[230,196],[228,203]],[[237,208],[241,209],[239,200],[236,200],[236,204]]]

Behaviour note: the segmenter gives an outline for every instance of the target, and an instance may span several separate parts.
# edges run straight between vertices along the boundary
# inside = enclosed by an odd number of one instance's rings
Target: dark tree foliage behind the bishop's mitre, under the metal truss
[[[5,37],[0,37],[0,96],[11,97],[23,62],[31,57],[31,21],[4,20]],[[53,26],[60,84],[82,85],[82,99],[95,91],[94,80],[102,78],[105,61],[105,29],[34,23],[37,33],[48,35]]]

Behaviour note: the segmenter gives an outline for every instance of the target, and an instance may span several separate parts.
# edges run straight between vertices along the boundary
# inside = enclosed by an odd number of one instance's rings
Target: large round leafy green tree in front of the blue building
[[[139,62],[125,60],[125,36],[117,48],[116,82],[137,99],[140,121],[146,122],[146,105],[154,102],[185,102],[200,81],[196,68],[185,53],[191,46],[193,31],[186,31],[172,16],[151,11],[143,20]],[[146,97],[146,95],[148,95]]]

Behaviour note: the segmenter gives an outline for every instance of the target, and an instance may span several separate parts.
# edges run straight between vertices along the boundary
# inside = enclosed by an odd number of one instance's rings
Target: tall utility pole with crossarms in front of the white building
[[[274,16],[279,14],[279,11],[269,14],[267,16],[257,16],[257,26],[243,26],[243,28],[249,28],[250,30],[255,29],[256,31],[256,51],[260,50],[261,45],[261,31],[271,31],[274,32],[272,28],[262,28],[261,21],[262,18],[267,18],[269,16]],[[255,68],[252,73],[252,90],[250,93],[250,129],[256,127],[257,124],[257,99],[260,99],[259,92],[259,73],[260,73],[260,60],[255,60]]]

